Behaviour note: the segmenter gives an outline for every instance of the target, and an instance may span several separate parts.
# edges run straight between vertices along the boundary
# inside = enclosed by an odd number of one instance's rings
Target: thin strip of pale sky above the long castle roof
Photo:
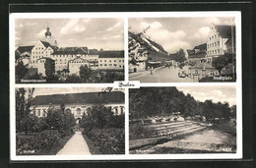
[[[66,93],[78,93],[78,92],[97,92],[102,91],[106,87],[35,87],[32,96],[36,95],[48,95],[48,94],[66,94]],[[123,91],[124,89],[112,89],[112,91]]]

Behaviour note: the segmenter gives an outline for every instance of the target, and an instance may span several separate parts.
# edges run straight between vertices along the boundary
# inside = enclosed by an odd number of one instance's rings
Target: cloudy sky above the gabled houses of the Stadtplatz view
[[[193,49],[205,43],[212,24],[232,25],[233,18],[136,18],[129,19],[129,30],[141,32],[150,26],[146,37],[160,43],[167,52],[174,53],[180,48]]]

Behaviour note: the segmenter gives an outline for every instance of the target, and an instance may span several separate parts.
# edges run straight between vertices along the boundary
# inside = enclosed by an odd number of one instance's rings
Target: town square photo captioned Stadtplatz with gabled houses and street
[[[132,18],[129,80],[236,82],[235,17]]]

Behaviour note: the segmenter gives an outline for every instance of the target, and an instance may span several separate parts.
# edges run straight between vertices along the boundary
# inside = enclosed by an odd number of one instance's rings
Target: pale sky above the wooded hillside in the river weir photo
[[[228,102],[229,106],[236,104],[236,88],[233,85],[211,86],[177,86],[185,94],[191,94],[196,100],[204,102],[212,99],[213,102]]]

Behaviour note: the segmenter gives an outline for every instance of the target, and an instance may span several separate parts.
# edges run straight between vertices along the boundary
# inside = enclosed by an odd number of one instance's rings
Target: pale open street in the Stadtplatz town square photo
[[[182,71],[187,73],[187,69],[188,67],[185,66]],[[138,76],[133,77],[130,74],[129,80],[140,81],[141,83],[193,83],[193,80],[188,77],[178,77],[179,70],[179,68],[174,69],[174,67],[160,67],[153,72],[153,75],[151,75],[150,71],[141,72]]]

